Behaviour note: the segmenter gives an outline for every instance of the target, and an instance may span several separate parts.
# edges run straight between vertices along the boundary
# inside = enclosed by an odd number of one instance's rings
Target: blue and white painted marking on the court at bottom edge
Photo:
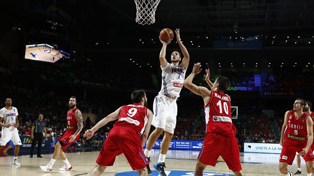
[[[164,172],[167,176],[194,176],[194,172],[192,171],[164,171]],[[132,172],[119,173],[119,174],[116,174],[115,176],[138,176],[138,174],[136,171],[132,171]],[[152,175],[150,176],[158,176],[157,171],[152,171]],[[235,176],[235,175],[204,172],[203,176]]]

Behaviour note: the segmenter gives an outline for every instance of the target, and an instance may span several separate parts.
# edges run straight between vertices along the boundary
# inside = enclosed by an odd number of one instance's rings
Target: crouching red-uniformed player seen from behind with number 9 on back
[[[95,168],[87,176],[101,175],[107,166],[114,164],[116,156],[122,153],[132,169],[137,170],[139,176],[148,176],[146,169],[148,163],[143,146],[151,129],[153,112],[147,108],[147,97],[144,90],[133,91],[131,99],[133,104],[119,107],[85,132],[84,136],[89,139],[99,128],[118,119],[99,153]]]

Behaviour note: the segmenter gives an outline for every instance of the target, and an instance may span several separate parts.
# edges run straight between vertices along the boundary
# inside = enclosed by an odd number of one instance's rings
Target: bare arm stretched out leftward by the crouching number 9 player
[[[86,130],[84,137],[87,137],[88,140],[94,135],[95,131],[97,131],[99,128],[105,126],[108,122],[118,119],[121,107],[119,107],[113,113],[109,114],[108,116],[100,120],[92,129]]]

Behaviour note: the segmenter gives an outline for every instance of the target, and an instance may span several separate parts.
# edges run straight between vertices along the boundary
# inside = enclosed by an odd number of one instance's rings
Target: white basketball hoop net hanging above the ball
[[[139,24],[155,23],[155,11],[160,0],[134,0],[136,4],[136,19]]]

